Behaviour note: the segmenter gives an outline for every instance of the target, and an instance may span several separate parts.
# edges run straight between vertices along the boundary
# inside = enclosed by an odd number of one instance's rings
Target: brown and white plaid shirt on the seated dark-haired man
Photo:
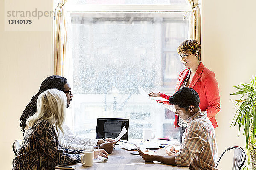
[[[185,120],[188,127],[182,136],[179,152],[175,154],[178,166],[190,170],[218,170],[215,131],[206,111],[198,111]]]

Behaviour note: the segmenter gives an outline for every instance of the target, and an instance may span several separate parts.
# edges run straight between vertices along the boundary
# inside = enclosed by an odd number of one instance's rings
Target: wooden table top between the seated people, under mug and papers
[[[82,164],[74,164],[76,170],[189,170],[189,167],[178,167],[162,164],[160,162],[147,162],[140,155],[131,155],[131,152],[119,146],[115,147],[109,154],[108,162],[94,163],[91,167],[82,166]],[[166,155],[165,148],[154,150],[159,155]]]

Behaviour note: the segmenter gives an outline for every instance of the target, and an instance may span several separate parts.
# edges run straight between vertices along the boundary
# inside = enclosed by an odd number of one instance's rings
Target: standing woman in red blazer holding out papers
[[[199,94],[200,109],[207,111],[207,117],[212,122],[213,127],[218,127],[214,117],[221,109],[218,82],[215,79],[214,72],[204,67],[203,63],[199,61],[201,56],[200,43],[197,40],[186,40],[179,45],[177,51],[180,54],[180,61],[185,65],[186,69],[180,72],[175,92],[185,86],[193,88]],[[171,97],[160,92],[151,92],[148,95],[165,99]],[[169,104],[169,102],[162,101],[161,103]],[[181,142],[187,125],[177,115],[175,115],[174,125],[175,127],[180,127]]]

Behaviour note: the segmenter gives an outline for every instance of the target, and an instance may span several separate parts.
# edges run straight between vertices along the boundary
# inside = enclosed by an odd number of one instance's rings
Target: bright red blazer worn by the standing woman
[[[175,88],[175,92],[180,89],[184,79],[189,73],[189,68],[180,72],[178,83]],[[213,127],[218,127],[215,115],[220,111],[220,96],[218,90],[218,82],[215,79],[215,74],[208,68],[204,67],[203,63],[200,62],[192,81],[190,82],[189,88],[193,88],[200,98],[200,109],[201,111],[207,111],[207,117],[212,122]],[[171,96],[160,93],[160,97],[169,99]],[[168,102],[164,102],[169,104]],[[177,127],[178,116],[175,115],[174,125]]]

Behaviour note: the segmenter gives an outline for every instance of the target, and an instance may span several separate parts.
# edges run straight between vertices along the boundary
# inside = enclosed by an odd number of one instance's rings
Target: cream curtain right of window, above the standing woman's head
[[[188,38],[198,40],[201,43],[201,14],[198,6],[198,0],[186,0],[191,8],[189,16],[189,34]]]

